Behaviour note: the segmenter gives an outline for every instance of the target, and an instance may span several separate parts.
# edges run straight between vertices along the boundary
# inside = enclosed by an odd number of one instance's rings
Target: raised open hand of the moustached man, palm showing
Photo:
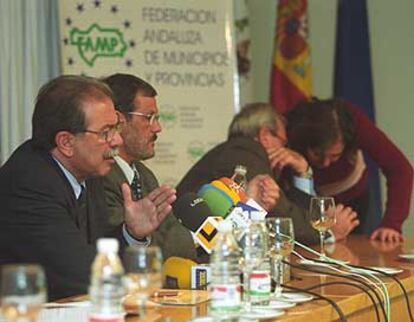
[[[122,185],[125,224],[135,238],[142,239],[154,232],[171,212],[171,204],[177,198],[175,189],[162,185],[141,200],[133,201],[128,184]]]

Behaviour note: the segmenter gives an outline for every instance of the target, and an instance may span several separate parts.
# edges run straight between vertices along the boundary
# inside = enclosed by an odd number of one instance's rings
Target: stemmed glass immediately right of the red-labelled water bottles
[[[274,296],[277,298],[282,294],[282,260],[292,252],[295,244],[295,234],[291,218],[267,218],[266,226],[269,231],[270,258],[272,259],[274,279],[276,281]]]

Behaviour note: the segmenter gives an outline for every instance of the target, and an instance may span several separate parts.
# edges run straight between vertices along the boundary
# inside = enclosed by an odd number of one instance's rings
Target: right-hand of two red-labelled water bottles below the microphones
[[[265,222],[252,217],[243,241],[243,300],[246,306],[268,305],[271,292],[271,266]]]

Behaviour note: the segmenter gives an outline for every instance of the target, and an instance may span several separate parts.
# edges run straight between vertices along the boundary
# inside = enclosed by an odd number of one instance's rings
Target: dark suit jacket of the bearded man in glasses
[[[135,161],[134,165],[140,173],[142,193],[146,196],[159,186],[158,181],[153,172],[142,162]],[[124,220],[124,201],[121,190],[121,185],[124,182],[127,182],[127,179],[118,164],[115,164],[103,179],[109,214],[106,221],[106,230],[109,232]],[[170,256],[179,256],[192,260],[200,260],[197,259],[196,249],[190,231],[181,225],[172,213],[165,218],[153,233],[152,243],[160,246],[164,259]]]

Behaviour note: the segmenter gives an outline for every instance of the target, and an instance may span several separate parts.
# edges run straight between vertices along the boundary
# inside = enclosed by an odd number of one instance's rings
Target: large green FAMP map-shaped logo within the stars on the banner
[[[73,28],[70,42],[78,47],[80,57],[91,67],[98,57],[123,57],[127,49],[119,29],[101,28],[96,23],[86,30]]]

